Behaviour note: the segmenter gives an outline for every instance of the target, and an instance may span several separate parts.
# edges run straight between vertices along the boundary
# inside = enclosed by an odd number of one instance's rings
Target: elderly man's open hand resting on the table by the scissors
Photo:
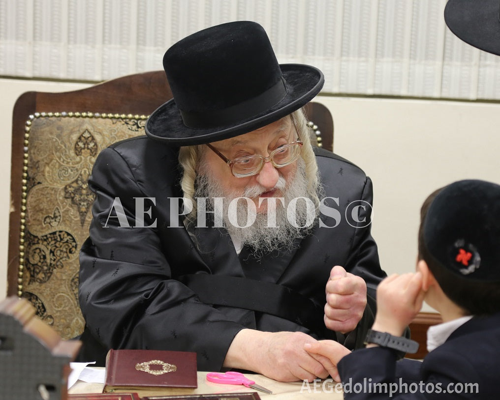
[[[239,331],[227,351],[224,367],[253,371],[280,382],[324,379],[328,372],[304,350],[316,340],[302,332]]]

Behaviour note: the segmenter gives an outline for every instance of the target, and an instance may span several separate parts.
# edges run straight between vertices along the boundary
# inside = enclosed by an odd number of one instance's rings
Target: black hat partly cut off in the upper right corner
[[[499,0],[449,0],[444,8],[444,20],[464,42],[500,55],[499,12]]]

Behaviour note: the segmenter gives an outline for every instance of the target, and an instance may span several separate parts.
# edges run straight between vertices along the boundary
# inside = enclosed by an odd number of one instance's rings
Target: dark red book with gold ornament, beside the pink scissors
[[[142,397],[144,391],[197,387],[196,353],[165,350],[109,350],[107,353],[104,392],[138,392]]]

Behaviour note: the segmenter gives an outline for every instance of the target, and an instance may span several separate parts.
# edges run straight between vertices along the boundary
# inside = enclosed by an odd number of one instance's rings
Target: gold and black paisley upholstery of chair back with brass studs
[[[91,113],[36,113],[26,122],[17,291],[64,339],[79,335],[84,325],[78,251],[92,218],[92,165],[111,143],[143,134],[144,123],[145,116]]]

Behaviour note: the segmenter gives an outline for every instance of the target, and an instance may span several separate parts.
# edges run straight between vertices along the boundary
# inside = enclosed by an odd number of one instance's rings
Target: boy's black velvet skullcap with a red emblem
[[[423,222],[427,251],[452,273],[500,281],[500,185],[461,180],[445,186]]]

